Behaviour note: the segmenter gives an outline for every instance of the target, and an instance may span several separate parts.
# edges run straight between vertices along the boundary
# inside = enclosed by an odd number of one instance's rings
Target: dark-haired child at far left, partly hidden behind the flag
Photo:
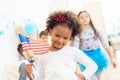
[[[21,61],[21,65],[19,66],[19,80],[38,80],[37,79],[37,67],[34,63],[34,54],[25,52],[22,48],[22,44],[18,45],[17,51],[24,59]],[[32,67],[32,70],[25,71],[26,65]],[[28,74],[31,73],[31,74]]]

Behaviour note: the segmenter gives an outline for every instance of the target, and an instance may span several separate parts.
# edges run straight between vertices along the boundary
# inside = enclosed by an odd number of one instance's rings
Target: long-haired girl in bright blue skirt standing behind
[[[98,65],[98,70],[96,74],[91,78],[91,80],[101,80],[101,72],[109,65],[109,56],[113,66],[116,66],[116,63],[114,62],[112,56],[112,51],[110,50],[109,45],[105,42],[101,31],[98,28],[94,27],[89,14],[86,11],[81,11],[78,14],[78,17],[82,31],[78,36],[75,37],[73,42],[74,47],[81,49]],[[98,40],[100,40],[103,48],[106,51],[100,48]],[[106,52],[109,54],[109,56]],[[80,62],[78,62],[78,64],[80,64]],[[80,68],[82,70],[85,69],[85,67],[81,64]]]

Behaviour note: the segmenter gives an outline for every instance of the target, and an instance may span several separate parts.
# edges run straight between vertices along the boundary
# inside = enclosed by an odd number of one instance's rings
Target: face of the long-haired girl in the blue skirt
[[[90,17],[86,12],[82,12],[79,15],[79,20],[81,25],[89,25],[90,24]]]

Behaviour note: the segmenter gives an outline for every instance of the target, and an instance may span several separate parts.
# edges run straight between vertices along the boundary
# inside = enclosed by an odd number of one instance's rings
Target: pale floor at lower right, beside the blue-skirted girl
[[[109,68],[102,73],[102,80],[120,80],[120,51],[117,51],[116,63],[116,68],[110,65]]]

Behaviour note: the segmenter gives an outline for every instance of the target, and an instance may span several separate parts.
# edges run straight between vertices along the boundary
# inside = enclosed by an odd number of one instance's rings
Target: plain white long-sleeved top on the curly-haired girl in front
[[[86,66],[85,71],[81,73],[86,79],[97,70],[95,62],[79,49],[70,46],[43,54],[41,59],[45,75],[45,79],[42,80],[55,80],[55,77],[59,77],[60,80],[79,80],[75,75],[77,61]]]

